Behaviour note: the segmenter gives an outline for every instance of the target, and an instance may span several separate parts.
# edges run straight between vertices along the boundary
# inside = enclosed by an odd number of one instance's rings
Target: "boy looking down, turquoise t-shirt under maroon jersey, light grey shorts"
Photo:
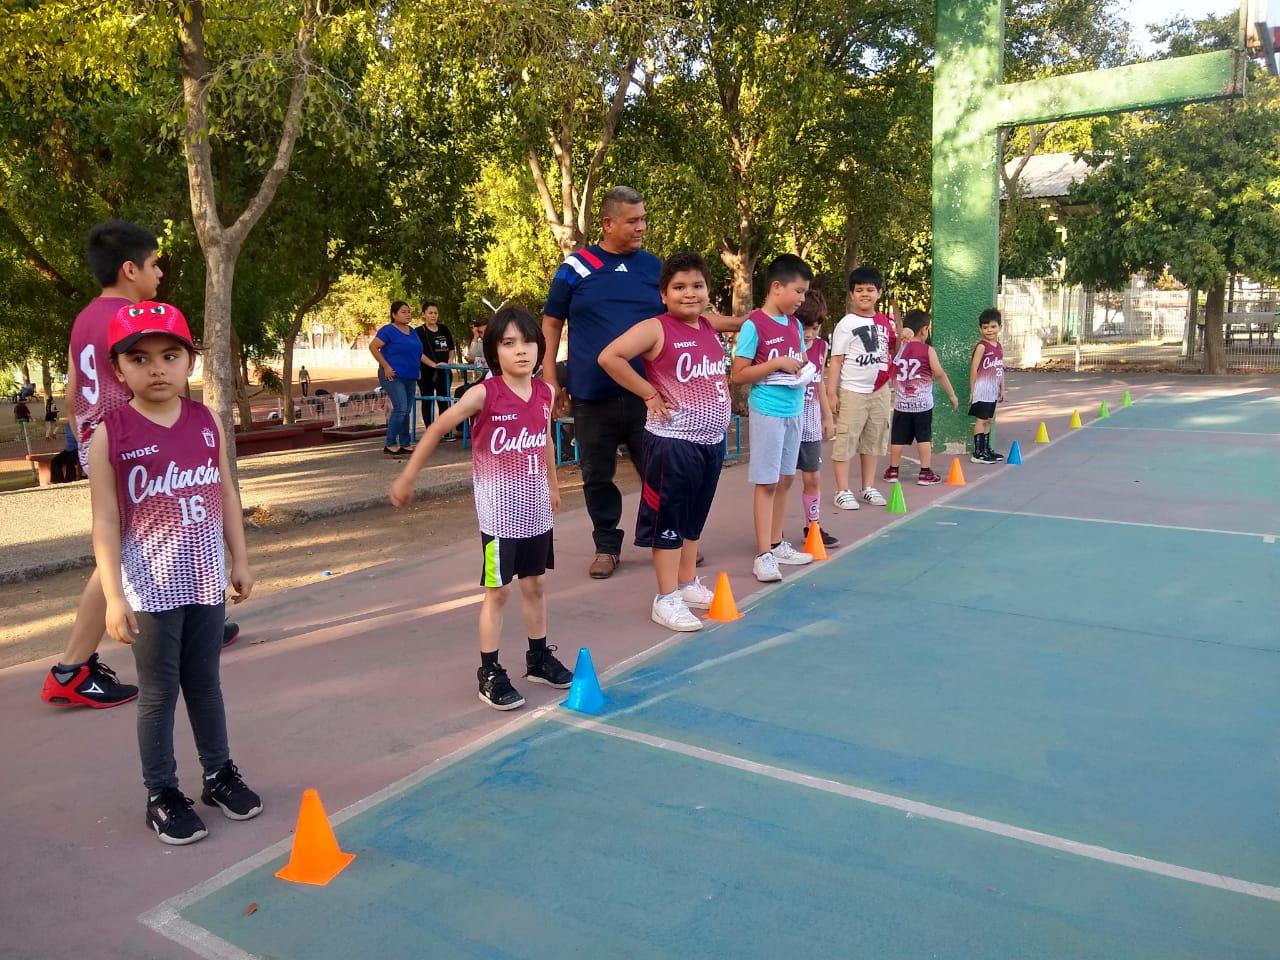
[[[749,398],[751,451],[748,479],[755,485],[755,562],[760,582],[781,580],[780,563],[801,566],[813,557],[782,539],[787,490],[800,456],[801,412],[808,380],[804,330],[794,316],[804,303],[813,270],[794,253],[769,264],[764,305],[742,324],[733,352],[733,383],[751,385]]]

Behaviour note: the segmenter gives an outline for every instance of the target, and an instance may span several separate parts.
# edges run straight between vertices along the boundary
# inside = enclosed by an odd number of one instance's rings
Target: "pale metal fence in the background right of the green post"
[[[1123,291],[1094,291],[1055,279],[1005,279],[998,306],[1001,342],[1011,367],[1071,370],[1204,369],[1204,305],[1188,291],[1152,287],[1135,276]],[[1276,328],[1280,293],[1234,278],[1224,339],[1229,370],[1280,370]]]

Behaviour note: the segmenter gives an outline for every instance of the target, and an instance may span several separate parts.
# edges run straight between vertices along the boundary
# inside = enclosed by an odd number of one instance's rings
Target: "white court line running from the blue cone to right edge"
[[[692,744],[685,744],[678,740],[667,740],[663,737],[650,736],[648,733],[623,730],[622,727],[614,727],[603,721],[573,717],[567,713],[557,714],[556,719],[562,723],[581,727],[582,730],[590,730],[596,733],[616,737],[617,740],[643,744],[644,746],[652,746],[658,750],[680,754],[681,756],[689,756],[695,760],[705,760],[719,767],[742,771],[744,773],[754,773],[756,776],[768,777],[769,780],[777,780],[783,783],[794,783],[796,786],[808,787],[809,790],[818,790],[823,794],[833,794],[850,800],[861,800],[863,803],[874,804],[876,806],[886,806],[891,810],[901,810],[911,817],[924,817],[931,820],[941,820],[942,823],[951,823],[957,827],[966,827],[968,829],[977,829],[983,833],[1007,837],[1009,840],[1016,840],[1023,844],[1032,844],[1034,846],[1057,850],[1059,852],[1070,854],[1073,856],[1083,856],[1089,860],[1100,860],[1116,867],[1125,867],[1130,870],[1153,873],[1160,877],[1171,877],[1172,879],[1187,881],[1188,883],[1198,883],[1202,887],[1213,887],[1216,890],[1225,890],[1230,893],[1243,893],[1244,896],[1258,897],[1260,900],[1272,900],[1275,902],[1280,902],[1280,887],[1272,887],[1266,883],[1254,883],[1253,881],[1236,879],[1235,877],[1226,877],[1220,873],[1197,870],[1190,867],[1179,867],[1178,864],[1165,863],[1164,860],[1152,860],[1134,854],[1124,854],[1119,850],[1096,846],[1094,844],[1080,844],[1075,840],[1053,836],[1052,833],[1041,833],[1039,831],[1027,829],[1025,827],[1015,827],[1011,823],[988,820],[986,817],[974,817],[973,814],[950,810],[945,806],[934,806],[933,804],[920,803],[919,800],[909,800],[905,796],[882,794],[878,790],[855,787],[850,783],[842,783],[836,780],[812,777],[808,773],[797,773],[796,771],[788,771],[785,767],[773,767],[768,763],[748,760],[742,756],[733,756],[732,754],[708,750],[705,748],[694,746]]]

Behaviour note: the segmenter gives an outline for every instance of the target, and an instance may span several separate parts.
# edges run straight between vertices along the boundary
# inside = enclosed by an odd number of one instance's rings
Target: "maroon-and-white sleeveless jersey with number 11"
[[[471,419],[471,475],[480,532],[540,536],[552,529],[547,430],[552,388],[532,380],[521,399],[502,376],[484,381],[484,407]]]

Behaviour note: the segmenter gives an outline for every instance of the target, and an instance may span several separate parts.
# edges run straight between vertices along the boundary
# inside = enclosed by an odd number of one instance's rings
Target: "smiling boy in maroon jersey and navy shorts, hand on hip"
[[[730,422],[728,365],[717,334],[741,326],[732,317],[705,315],[709,279],[698,253],[669,257],[658,278],[667,312],[636,324],[599,357],[600,369],[649,410],[635,544],[653,549],[658,593],[650,618],[680,631],[701,630],[690,607],[712,605],[712,591],[694,567]],[[631,366],[636,357],[644,376]]]

